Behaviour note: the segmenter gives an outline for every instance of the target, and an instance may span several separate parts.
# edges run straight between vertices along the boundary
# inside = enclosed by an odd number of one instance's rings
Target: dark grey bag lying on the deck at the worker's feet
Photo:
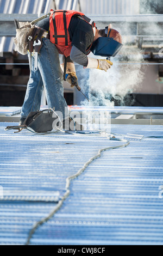
[[[50,132],[53,130],[53,122],[57,117],[53,117],[53,111],[45,109],[43,111],[30,112],[23,125],[20,126],[7,126],[7,130],[18,130],[31,128],[36,133]]]

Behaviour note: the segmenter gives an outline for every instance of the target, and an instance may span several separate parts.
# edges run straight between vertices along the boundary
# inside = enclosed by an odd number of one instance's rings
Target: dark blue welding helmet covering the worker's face
[[[103,57],[115,57],[122,48],[121,34],[112,28],[111,24],[105,27],[105,36],[93,42],[91,52]]]

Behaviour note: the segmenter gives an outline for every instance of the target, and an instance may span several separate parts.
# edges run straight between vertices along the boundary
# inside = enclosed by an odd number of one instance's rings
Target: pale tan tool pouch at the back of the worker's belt
[[[16,29],[16,37],[14,38],[14,44],[17,51],[22,55],[26,55],[28,52],[28,36],[32,34],[34,26],[29,22],[19,22],[20,28]]]

